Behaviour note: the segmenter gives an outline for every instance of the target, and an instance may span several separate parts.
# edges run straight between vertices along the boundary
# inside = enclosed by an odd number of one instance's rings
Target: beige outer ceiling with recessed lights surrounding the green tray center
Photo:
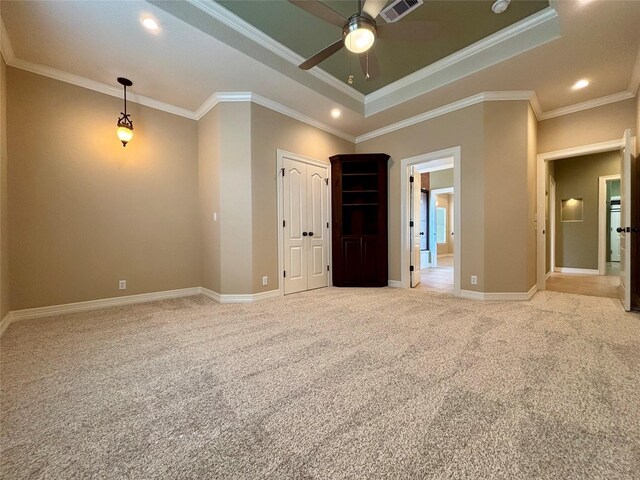
[[[526,28],[503,32],[500,41],[367,97],[317,68],[299,70],[295,54],[256,38],[260,32],[238,32],[242,22],[216,16],[211,0],[157,3],[162,8],[142,1],[2,2],[2,54],[17,68],[112,95],[121,94],[116,77],[125,76],[141,103],[191,118],[216,93],[252,92],[258,103],[346,138],[481,92],[535,92],[538,114],[553,115],[602,97],[629,98],[640,82],[635,0],[551,1],[555,12],[546,11]],[[145,15],[159,21],[159,33],[142,27]],[[572,91],[583,77],[591,85]],[[334,107],[343,112],[337,120],[330,115]]]

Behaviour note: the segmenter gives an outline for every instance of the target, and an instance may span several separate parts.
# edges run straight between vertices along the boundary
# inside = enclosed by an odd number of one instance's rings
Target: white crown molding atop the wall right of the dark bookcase
[[[456,102],[449,103],[447,105],[443,105],[442,107],[435,108],[433,110],[429,110],[428,112],[421,113],[420,115],[416,115],[414,117],[406,118],[396,123],[392,123],[391,125],[387,125],[386,127],[379,128],[377,130],[373,130],[371,132],[365,133],[363,135],[359,135],[356,137],[356,143],[366,142],[367,140],[371,140],[373,138],[379,137],[381,135],[386,135],[387,133],[395,132],[397,130],[401,130],[403,128],[410,127],[412,125],[416,125],[417,123],[425,122],[427,120],[431,120],[432,118],[440,117],[442,115],[446,115],[451,112],[455,112],[456,110],[460,110],[463,108],[470,107],[472,105],[476,105],[478,103],[483,102],[501,102],[501,101],[532,101],[532,98],[535,98],[535,92],[531,90],[521,90],[521,91],[513,91],[513,92],[483,92],[478,93],[477,95],[473,95],[471,97],[463,98],[462,100],[458,100]],[[537,101],[537,99],[536,99]],[[535,110],[534,110],[535,111]]]

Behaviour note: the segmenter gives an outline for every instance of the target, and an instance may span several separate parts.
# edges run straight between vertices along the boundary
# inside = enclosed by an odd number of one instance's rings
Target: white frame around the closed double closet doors
[[[329,179],[329,185],[327,186],[327,221],[329,222],[329,226],[331,226],[331,164],[328,162],[321,162],[320,160],[315,160],[313,158],[305,157],[304,155],[299,155],[297,153],[288,152],[286,150],[282,150],[280,148],[276,149],[276,172],[275,172],[275,180],[276,180],[276,202],[278,204],[278,223],[276,224],[276,228],[278,230],[278,293],[280,296],[284,296],[284,234],[282,228],[282,222],[284,220],[284,197],[282,192],[282,163],[284,157],[290,158],[292,160],[296,160],[298,162],[306,163],[309,165],[315,165],[317,167],[322,167],[327,169],[327,178]],[[331,251],[331,227],[329,227],[329,233],[327,234],[327,264],[329,265],[329,271],[327,272],[328,278],[328,286],[333,286],[333,254]]]

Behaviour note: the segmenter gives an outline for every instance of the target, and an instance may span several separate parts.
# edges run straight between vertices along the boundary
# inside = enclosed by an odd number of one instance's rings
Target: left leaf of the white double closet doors
[[[307,289],[307,165],[289,158],[284,168],[284,293]]]

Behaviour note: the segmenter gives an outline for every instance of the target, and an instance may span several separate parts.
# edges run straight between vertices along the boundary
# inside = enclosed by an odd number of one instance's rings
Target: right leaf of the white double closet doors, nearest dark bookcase
[[[307,165],[308,282],[307,289],[326,287],[328,243],[327,168]]]

